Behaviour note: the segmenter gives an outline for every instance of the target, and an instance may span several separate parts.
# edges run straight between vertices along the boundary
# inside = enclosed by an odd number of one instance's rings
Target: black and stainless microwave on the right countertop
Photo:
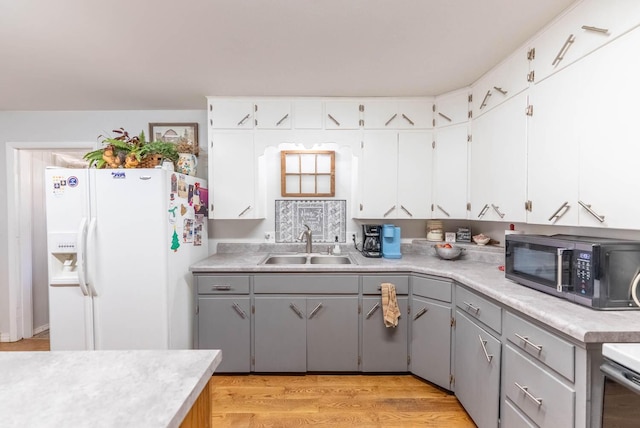
[[[640,241],[507,235],[505,276],[594,309],[640,309]]]

